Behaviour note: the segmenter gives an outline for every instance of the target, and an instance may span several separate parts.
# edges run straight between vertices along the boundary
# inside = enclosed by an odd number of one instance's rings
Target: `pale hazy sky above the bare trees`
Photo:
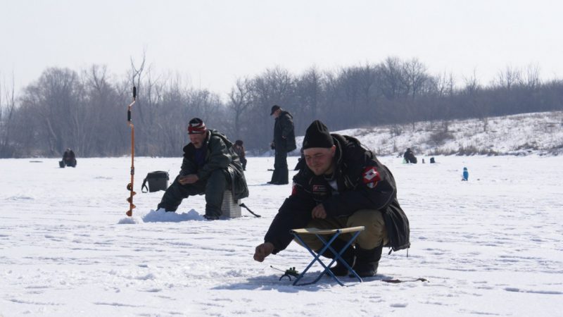
[[[0,80],[19,89],[48,67],[100,64],[124,77],[130,58],[224,97],[237,77],[280,66],[419,58],[432,74],[488,84],[507,66],[563,77],[562,1],[0,0]]]

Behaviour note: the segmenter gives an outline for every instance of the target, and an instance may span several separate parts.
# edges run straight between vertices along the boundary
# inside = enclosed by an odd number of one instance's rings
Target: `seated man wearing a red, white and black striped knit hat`
[[[176,211],[182,199],[205,194],[205,218],[222,215],[224,191],[232,190],[234,199],[248,197],[248,187],[239,156],[232,142],[217,130],[208,130],[200,118],[189,121],[190,143],[184,147],[179,175],[166,189],[158,209]]]

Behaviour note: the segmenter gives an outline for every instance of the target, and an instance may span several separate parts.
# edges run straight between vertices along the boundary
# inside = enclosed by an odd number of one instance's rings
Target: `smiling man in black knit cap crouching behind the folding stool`
[[[377,273],[383,247],[395,251],[410,247],[409,222],[399,206],[395,180],[372,151],[353,137],[331,135],[315,120],[305,133],[303,154],[306,166],[293,177],[293,192],[279,208],[264,243],[255,248],[255,261],[286,249],[292,240],[290,230],[296,228],[365,226],[342,255],[361,277]],[[314,236],[305,235],[303,240],[313,250],[322,248]],[[332,246],[340,250],[345,244],[337,239]],[[331,251],[322,256],[334,259]],[[348,275],[339,262],[330,270]]]

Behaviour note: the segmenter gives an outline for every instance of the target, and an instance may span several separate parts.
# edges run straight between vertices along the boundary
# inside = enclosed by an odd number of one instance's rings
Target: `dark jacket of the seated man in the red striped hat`
[[[242,199],[248,197],[248,186],[246,186],[246,178],[239,160],[239,156],[234,153],[233,143],[227,139],[225,135],[217,130],[208,130],[205,138],[204,146],[207,148],[205,154],[205,163],[198,168],[196,163],[196,147],[189,143],[184,147],[184,159],[182,160],[182,168],[180,176],[197,174],[200,180],[209,178],[213,170],[222,169],[231,182],[232,193],[234,199]]]

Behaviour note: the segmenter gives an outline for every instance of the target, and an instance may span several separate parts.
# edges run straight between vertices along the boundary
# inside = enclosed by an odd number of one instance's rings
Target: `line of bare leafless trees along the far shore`
[[[47,68],[18,95],[0,82],[0,157],[61,156],[67,147],[78,156],[122,156],[130,151],[127,105],[132,87],[135,152],[139,156],[179,156],[189,142],[186,125],[202,118],[209,128],[242,139],[256,152],[268,149],[273,134],[270,108],[293,114],[296,135],[312,120],[331,130],[399,125],[431,120],[481,118],[563,109],[563,81],[540,80],[540,70],[507,67],[483,85],[475,74],[455,82],[453,75],[431,75],[417,58],[388,57],[380,63],[337,70],[315,67],[292,74],[281,67],[240,77],[227,97],[196,89],[175,75],[158,74],[132,63],[125,77],[105,66],[80,71]],[[486,129],[486,124],[483,125]],[[400,133],[400,131],[398,131]]]

